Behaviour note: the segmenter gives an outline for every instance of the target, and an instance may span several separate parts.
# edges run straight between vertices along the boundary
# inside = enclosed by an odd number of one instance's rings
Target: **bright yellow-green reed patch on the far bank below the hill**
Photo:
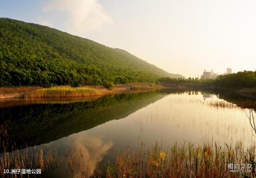
[[[25,98],[62,98],[101,95],[103,91],[93,87],[54,86],[31,92]]]

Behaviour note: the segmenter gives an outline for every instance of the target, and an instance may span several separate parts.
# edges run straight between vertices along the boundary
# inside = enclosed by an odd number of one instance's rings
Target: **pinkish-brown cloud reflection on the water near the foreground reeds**
[[[74,141],[72,152],[73,159],[74,156],[79,159],[77,161],[80,161],[80,168],[77,167],[79,171],[75,172],[74,177],[79,177],[82,171],[91,176],[97,163],[102,160],[111,147],[113,147],[113,142],[104,143],[98,137],[78,137]]]

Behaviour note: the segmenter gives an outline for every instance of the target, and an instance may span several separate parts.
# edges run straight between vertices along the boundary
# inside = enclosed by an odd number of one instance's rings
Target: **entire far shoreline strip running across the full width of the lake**
[[[151,83],[130,83],[119,84],[112,88],[107,88],[102,85],[94,86],[53,86],[44,88],[40,86],[21,86],[21,87],[0,87],[0,100],[5,99],[51,99],[51,98],[90,98],[99,97],[107,94],[117,94],[126,92],[141,92],[158,89],[171,90],[214,90],[220,92],[230,92],[239,95],[249,95],[256,97],[256,88],[219,88],[219,87],[200,87],[200,86],[184,86],[172,85],[161,86]]]

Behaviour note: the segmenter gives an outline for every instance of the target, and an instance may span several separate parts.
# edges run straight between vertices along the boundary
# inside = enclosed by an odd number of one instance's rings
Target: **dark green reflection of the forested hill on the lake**
[[[15,142],[15,147],[23,148],[26,143],[28,146],[47,143],[124,118],[163,97],[153,91],[107,95],[87,102],[0,108],[0,122],[9,133],[9,145]]]

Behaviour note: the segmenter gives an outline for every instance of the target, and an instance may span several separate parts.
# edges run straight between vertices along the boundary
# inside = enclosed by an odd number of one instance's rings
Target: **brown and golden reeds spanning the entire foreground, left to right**
[[[57,152],[43,153],[14,151],[0,157],[0,170],[4,168],[41,168],[45,177],[255,177],[255,145],[244,148],[241,142],[234,146],[204,143],[202,145],[185,142],[173,143],[164,150],[159,145],[139,150],[126,149],[116,152],[103,168],[88,165],[83,151],[67,152],[60,156]],[[229,164],[250,164],[251,172],[231,172]],[[5,176],[1,172],[1,176]],[[17,177],[16,175],[8,175]],[[20,175],[19,175],[20,176]],[[61,175],[63,176],[63,175]]]

